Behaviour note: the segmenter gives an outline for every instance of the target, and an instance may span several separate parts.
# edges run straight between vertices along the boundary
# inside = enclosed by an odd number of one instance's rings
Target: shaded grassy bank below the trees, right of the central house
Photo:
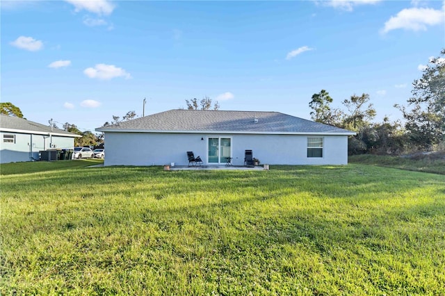
[[[394,167],[401,170],[416,172],[430,172],[433,174],[445,174],[445,154],[439,157],[417,156],[406,158],[401,156],[378,156],[373,154],[362,154],[349,156],[350,163],[362,163],[367,165],[378,165],[381,167]]]

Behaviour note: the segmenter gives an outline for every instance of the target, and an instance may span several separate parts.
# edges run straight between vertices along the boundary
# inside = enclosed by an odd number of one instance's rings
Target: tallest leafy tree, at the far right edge
[[[421,79],[412,83],[408,107],[394,105],[402,111],[410,140],[421,149],[432,149],[445,132],[445,49],[431,58]]]

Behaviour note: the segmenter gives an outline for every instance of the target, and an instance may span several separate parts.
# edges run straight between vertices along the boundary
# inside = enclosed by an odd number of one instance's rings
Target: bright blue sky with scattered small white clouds
[[[1,1],[1,101],[94,131],[144,98],[310,119],[325,89],[398,120],[444,28],[445,1]]]

